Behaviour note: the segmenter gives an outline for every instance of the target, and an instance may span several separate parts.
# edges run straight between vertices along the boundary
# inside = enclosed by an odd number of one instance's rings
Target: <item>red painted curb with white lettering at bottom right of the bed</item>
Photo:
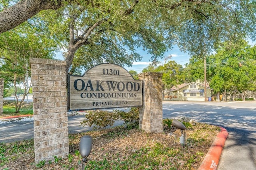
[[[220,129],[221,129],[220,133],[218,133],[215,140],[213,141],[212,146],[208,150],[198,170],[216,170],[217,169],[223,147],[228,137],[228,131],[223,127],[220,127]]]

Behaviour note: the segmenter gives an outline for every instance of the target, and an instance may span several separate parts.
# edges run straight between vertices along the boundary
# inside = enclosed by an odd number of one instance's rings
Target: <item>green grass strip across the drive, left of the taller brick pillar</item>
[[[14,116],[14,115],[33,115],[33,103],[23,102],[19,113],[15,113],[15,102],[5,100],[3,103],[3,114],[0,117]]]

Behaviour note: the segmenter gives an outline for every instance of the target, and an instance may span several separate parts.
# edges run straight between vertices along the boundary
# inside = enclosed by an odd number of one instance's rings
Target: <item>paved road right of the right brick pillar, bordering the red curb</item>
[[[190,117],[228,130],[218,170],[256,170],[256,102],[163,102],[163,117]]]

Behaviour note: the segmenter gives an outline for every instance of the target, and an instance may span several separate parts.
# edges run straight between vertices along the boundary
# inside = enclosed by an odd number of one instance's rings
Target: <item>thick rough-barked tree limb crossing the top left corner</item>
[[[0,33],[13,29],[42,10],[56,10],[73,0],[21,0],[0,12]]]

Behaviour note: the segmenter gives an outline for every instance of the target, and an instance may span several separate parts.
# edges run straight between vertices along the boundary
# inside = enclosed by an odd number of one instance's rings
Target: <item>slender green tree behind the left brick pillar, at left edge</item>
[[[23,23],[0,34],[0,76],[5,80],[5,87],[14,86],[14,92],[11,94],[16,99],[17,113],[31,85],[29,58],[52,58],[56,50],[54,41],[47,38],[46,34],[40,33],[42,32],[36,33],[31,25]],[[21,92],[20,89],[24,91]]]

